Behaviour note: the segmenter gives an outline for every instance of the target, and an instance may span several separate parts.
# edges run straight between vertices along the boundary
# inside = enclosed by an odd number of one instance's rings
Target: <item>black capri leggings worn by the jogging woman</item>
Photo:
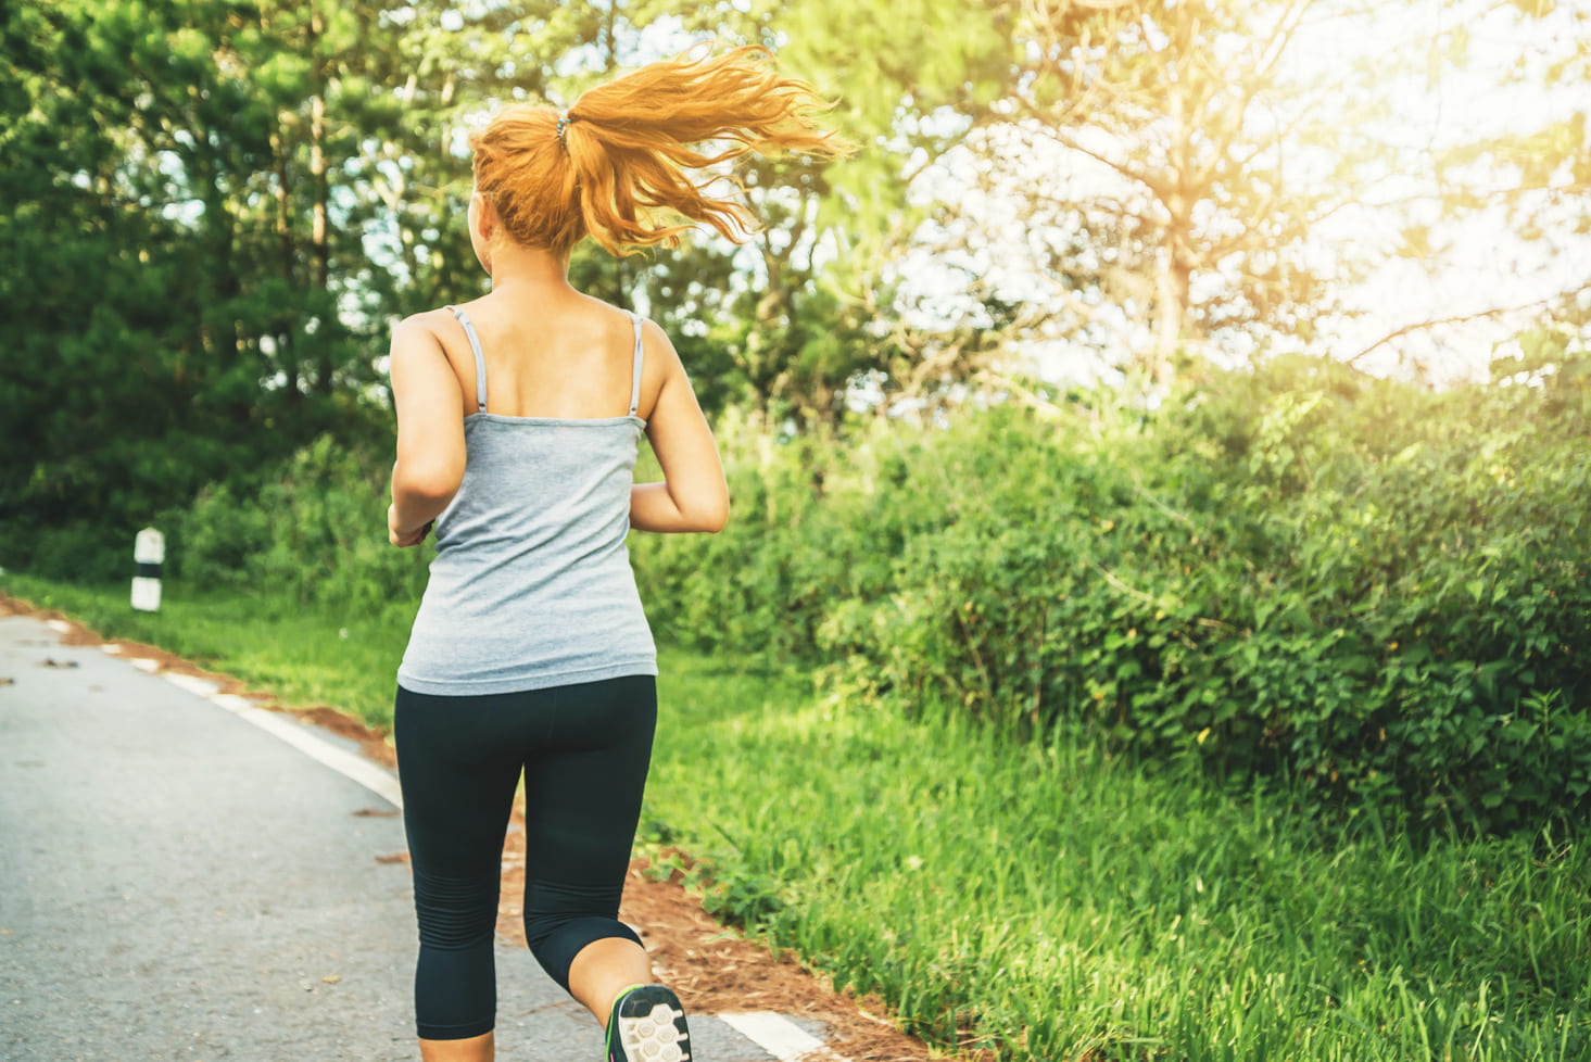
[[[525,936],[570,987],[570,963],[617,921],[657,725],[652,676],[523,693],[398,688],[393,738],[414,865],[420,960],[415,1025],[463,1040],[496,1024],[503,835],[525,773]]]

